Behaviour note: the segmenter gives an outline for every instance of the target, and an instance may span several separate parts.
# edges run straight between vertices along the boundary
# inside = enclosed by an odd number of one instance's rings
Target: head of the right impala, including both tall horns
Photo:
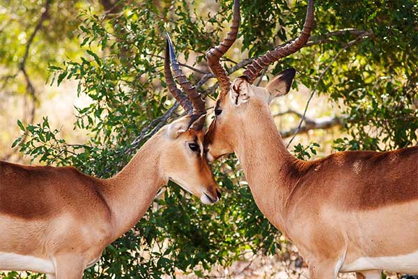
[[[229,50],[238,34],[240,8],[239,1],[234,0],[231,31],[223,43],[212,48],[206,54],[208,65],[217,77],[221,88],[215,106],[215,119],[210,124],[205,137],[208,160],[216,160],[220,156],[232,153],[233,146],[235,146],[234,141],[239,139],[240,132],[245,129],[245,123],[247,121],[265,121],[260,118],[265,116],[263,112],[266,110],[270,113],[268,105],[272,99],[288,93],[293,77],[295,77],[295,69],[293,68],[279,73],[265,87],[255,86],[253,82],[261,70],[270,63],[293,54],[304,46],[309,38],[313,20],[314,1],[309,0],[307,16],[300,36],[291,43],[276,47],[265,55],[254,59],[242,76],[231,83],[226,70],[219,63],[219,59]]]

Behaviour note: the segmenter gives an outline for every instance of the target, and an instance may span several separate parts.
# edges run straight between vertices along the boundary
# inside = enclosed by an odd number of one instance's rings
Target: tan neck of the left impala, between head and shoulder
[[[157,133],[139,149],[116,176],[107,179],[104,198],[116,221],[114,238],[118,238],[138,223],[153,202],[157,191],[167,184],[160,173],[160,151],[162,136]]]

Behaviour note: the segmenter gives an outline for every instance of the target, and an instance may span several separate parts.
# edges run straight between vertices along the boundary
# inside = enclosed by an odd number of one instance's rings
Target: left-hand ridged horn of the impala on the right
[[[206,53],[206,60],[210,70],[215,74],[221,86],[221,94],[226,94],[231,87],[231,81],[229,80],[228,74],[226,73],[225,68],[219,63],[219,59],[229,50],[229,47],[235,42],[238,34],[238,27],[240,26],[240,1],[233,1],[233,19],[231,24],[231,29],[229,30],[228,36],[224,39],[222,43],[216,47],[212,47]]]

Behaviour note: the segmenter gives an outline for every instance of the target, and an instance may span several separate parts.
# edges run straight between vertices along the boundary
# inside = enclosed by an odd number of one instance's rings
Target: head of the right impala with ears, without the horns
[[[270,114],[268,105],[274,98],[288,93],[293,77],[295,69],[289,68],[265,87],[255,86],[245,77],[236,78],[229,92],[217,98],[215,119],[205,137],[208,160],[233,153],[233,146],[236,146],[247,121],[265,121],[265,114]]]

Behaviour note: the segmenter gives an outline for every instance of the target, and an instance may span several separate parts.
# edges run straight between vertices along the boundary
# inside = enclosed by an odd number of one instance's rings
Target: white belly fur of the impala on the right
[[[418,272],[418,251],[394,257],[361,257],[354,262],[344,263],[341,272],[385,270],[404,273]]]

